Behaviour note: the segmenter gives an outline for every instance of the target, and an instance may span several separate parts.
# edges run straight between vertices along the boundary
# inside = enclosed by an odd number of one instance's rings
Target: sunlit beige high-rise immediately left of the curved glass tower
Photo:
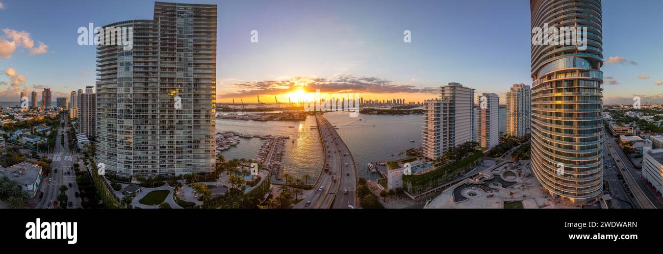
[[[513,84],[507,92],[507,135],[520,137],[530,133],[532,90],[526,84]]]

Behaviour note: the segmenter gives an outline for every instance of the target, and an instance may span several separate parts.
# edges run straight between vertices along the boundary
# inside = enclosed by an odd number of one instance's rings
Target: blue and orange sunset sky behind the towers
[[[180,2],[219,5],[219,102],[287,101],[316,89],[423,101],[449,82],[503,101],[512,84],[532,83],[526,0]],[[44,87],[68,97],[93,86],[95,46],[78,45],[78,28],[151,19],[153,7],[0,0],[0,101]],[[663,103],[662,9],[657,0],[603,1],[605,103],[631,104],[635,95]]]

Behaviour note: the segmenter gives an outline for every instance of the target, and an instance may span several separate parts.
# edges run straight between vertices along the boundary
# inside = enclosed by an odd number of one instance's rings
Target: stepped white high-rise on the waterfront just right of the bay
[[[422,149],[435,159],[450,147],[472,140],[474,90],[458,83],[440,89],[440,99],[424,102]]]

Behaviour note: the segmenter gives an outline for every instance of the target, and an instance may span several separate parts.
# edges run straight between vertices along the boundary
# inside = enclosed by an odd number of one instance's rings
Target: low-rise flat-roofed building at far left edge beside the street
[[[0,176],[7,176],[11,180],[17,180],[30,198],[34,198],[34,194],[39,189],[39,182],[44,177],[41,166],[27,161],[15,164],[9,168],[0,166]]]

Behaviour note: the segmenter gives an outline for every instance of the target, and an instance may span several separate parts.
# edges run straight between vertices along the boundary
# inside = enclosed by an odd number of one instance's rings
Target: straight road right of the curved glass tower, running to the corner
[[[616,160],[615,164],[617,164],[617,168],[623,172],[624,179],[629,185],[631,192],[633,192],[633,196],[635,196],[633,205],[636,208],[663,208],[663,204],[649,191],[646,182],[639,177],[633,164],[629,162],[624,152],[619,149],[619,145],[617,145],[615,139],[609,136],[606,131],[604,131],[603,136],[605,137],[605,145],[607,145],[610,151],[609,155]]]

